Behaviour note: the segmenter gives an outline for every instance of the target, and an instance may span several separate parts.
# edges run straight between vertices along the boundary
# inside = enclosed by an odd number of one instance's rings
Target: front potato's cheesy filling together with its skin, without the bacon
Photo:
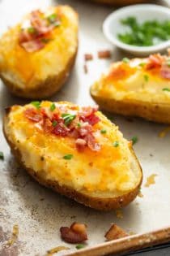
[[[42,102],[41,107],[50,104]],[[56,104],[74,106],[69,102]],[[93,127],[100,150],[86,148],[79,152],[73,137],[42,132],[30,122],[23,115],[30,106],[12,106],[5,116],[3,131],[15,158],[31,176],[40,184],[98,210],[116,209],[134,200],[142,182],[141,167],[130,143],[104,115],[96,113],[100,122]],[[107,134],[100,132],[103,128]],[[115,140],[119,141],[118,147],[113,146]],[[66,160],[66,154],[73,158]]]

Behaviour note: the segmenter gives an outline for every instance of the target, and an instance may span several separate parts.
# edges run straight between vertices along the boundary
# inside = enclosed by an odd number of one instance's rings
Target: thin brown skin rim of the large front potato
[[[17,162],[26,170],[28,173],[40,184],[45,185],[45,187],[53,189],[53,191],[57,193],[61,193],[62,195],[66,197],[70,197],[71,199],[74,199],[75,201],[82,203],[85,206],[89,206],[93,209],[96,210],[103,210],[103,211],[108,211],[108,210],[116,210],[118,208],[127,206],[134,200],[135,197],[138,195],[138,191],[140,189],[140,186],[142,184],[142,177],[141,180],[138,183],[138,186],[130,191],[129,193],[126,193],[120,197],[108,197],[108,198],[102,198],[102,197],[90,197],[86,194],[79,193],[78,191],[71,189],[68,186],[61,186],[57,183],[57,181],[52,181],[52,180],[44,180],[42,177],[38,175],[35,171],[33,171],[30,168],[27,168],[24,166],[24,163],[22,162],[21,158],[21,153],[18,149],[15,148],[15,145],[11,143],[11,141],[8,139],[8,136],[6,134],[6,122],[8,115],[11,111],[11,108],[6,109],[6,115],[4,116],[3,119],[3,133],[6,137],[6,141],[11,147],[11,152],[14,154]],[[138,162],[138,158],[136,158],[136,155],[134,154],[134,150],[131,148],[131,153],[134,155],[135,161]],[[141,170],[142,173],[142,168],[140,164],[138,163],[138,167]]]

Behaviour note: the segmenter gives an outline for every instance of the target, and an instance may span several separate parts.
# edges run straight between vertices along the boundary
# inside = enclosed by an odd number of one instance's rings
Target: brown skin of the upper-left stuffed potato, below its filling
[[[66,83],[67,78],[70,76],[70,71],[74,67],[77,51],[78,47],[62,72],[56,76],[49,76],[44,82],[40,81],[34,89],[19,89],[18,85],[11,83],[10,80],[6,80],[3,76],[0,76],[0,78],[15,96],[31,99],[48,98],[54,93],[57,93],[57,91],[61,89],[62,85]]]

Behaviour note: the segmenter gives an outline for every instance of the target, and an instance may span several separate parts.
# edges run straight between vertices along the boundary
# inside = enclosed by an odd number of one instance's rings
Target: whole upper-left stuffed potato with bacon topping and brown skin
[[[68,6],[32,11],[0,38],[0,77],[22,98],[47,98],[65,83],[78,50],[78,15]]]

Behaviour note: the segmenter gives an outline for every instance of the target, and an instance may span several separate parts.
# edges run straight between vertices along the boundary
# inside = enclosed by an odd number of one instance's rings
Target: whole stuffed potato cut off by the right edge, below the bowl
[[[170,124],[170,58],[123,59],[91,86],[91,96],[106,111]]]

